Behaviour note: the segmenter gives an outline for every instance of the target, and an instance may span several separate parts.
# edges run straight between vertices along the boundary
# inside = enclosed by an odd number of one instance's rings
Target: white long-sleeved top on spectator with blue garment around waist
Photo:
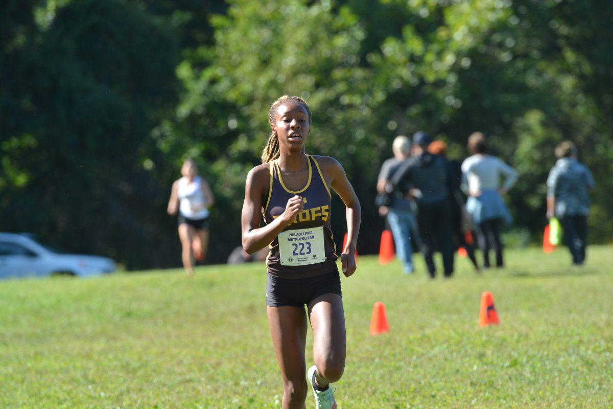
[[[477,154],[462,162],[462,184],[467,191],[498,190],[501,178],[502,187],[508,190],[517,182],[517,171],[495,156]]]

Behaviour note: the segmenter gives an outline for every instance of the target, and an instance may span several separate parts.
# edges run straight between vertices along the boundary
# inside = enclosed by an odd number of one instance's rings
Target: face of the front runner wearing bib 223
[[[276,109],[275,123],[270,124],[279,138],[280,147],[302,149],[310,132],[307,109],[302,104],[288,101]]]

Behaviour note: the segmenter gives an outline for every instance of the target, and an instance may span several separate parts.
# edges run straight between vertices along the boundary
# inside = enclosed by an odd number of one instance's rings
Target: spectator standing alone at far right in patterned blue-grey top
[[[573,142],[560,143],[555,156],[558,160],[547,178],[547,218],[555,215],[560,220],[573,264],[581,266],[587,246],[588,190],[594,187],[594,179],[590,169],[577,161]]]

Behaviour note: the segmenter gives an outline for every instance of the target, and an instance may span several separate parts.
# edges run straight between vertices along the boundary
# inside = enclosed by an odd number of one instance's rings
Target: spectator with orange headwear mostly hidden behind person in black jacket
[[[447,159],[447,144],[442,140],[435,140],[428,146],[428,152],[432,155],[440,155]],[[479,272],[479,264],[474,257],[474,248],[472,243],[466,242],[465,229],[470,223],[467,223],[464,198],[460,192],[460,183],[462,182],[462,165],[459,161],[451,161],[447,159],[447,172],[449,172],[449,180],[451,181],[451,192],[449,192],[449,207],[451,207],[451,236],[454,243],[454,248],[463,248],[468,255],[468,258],[473,263],[474,268]],[[466,230],[470,232],[470,228]]]

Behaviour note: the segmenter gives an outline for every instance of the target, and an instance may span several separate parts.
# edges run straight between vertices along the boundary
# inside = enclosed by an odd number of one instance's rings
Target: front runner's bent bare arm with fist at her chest
[[[245,201],[241,215],[243,250],[249,254],[269,245],[283,229],[296,220],[303,209],[302,198],[294,196],[285,208],[285,212],[272,223],[259,227],[262,212],[262,197],[270,189],[270,171],[265,164],[251,169],[245,184]]]

